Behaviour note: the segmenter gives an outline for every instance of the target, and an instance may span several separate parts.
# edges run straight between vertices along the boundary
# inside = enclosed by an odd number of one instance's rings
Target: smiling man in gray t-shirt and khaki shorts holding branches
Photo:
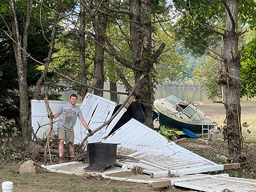
[[[58,139],[59,139],[59,163],[65,162],[63,157],[64,151],[64,140],[69,143],[69,153],[71,157],[74,157],[74,125],[76,124],[77,117],[80,119],[81,123],[88,130],[89,134],[92,133],[86,121],[83,119],[82,112],[80,108],[76,105],[77,95],[72,94],[70,96],[70,103],[63,104],[58,112],[53,115],[53,118],[59,117],[58,121]]]

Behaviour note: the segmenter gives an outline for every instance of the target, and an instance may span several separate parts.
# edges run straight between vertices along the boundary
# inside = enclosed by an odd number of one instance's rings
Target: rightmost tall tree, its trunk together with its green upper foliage
[[[241,53],[239,52],[239,36],[246,32],[243,28],[239,28],[238,13],[239,7],[245,6],[247,8],[241,9],[241,15],[248,18],[245,10],[253,14],[249,6],[254,5],[255,2],[247,1],[245,3],[239,0],[207,2],[177,0],[174,2],[176,7],[183,13],[183,17],[180,19],[182,23],[179,24],[185,24],[187,26],[184,38],[180,37],[180,39],[194,52],[199,53],[201,51],[202,53],[202,51],[205,51],[216,59],[221,58],[224,62],[225,69],[221,71],[219,80],[219,84],[226,87],[226,126],[224,127],[224,133],[228,140],[229,156],[231,158],[238,158],[242,150],[240,121]],[[215,25],[216,20],[219,18],[223,19],[223,25],[221,27]],[[245,19],[243,22],[245,22]],[[180,29],[182,28],[180,27]],[[192,29],[193,31],[191,31]],[[209,49],[210,46],[217,45],[216,42],[219,41],[218,36],[223,38],[223,55],[219,55],[217,52]]]

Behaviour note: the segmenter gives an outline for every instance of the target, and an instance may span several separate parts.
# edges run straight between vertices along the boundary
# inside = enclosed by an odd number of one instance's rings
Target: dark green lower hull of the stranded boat
[[[202,124],[190,124],[190,123],[186,123],[186,122],[177,121],[175,119],[172,119],[170,117],[163,115],[159,111],[158,111],[158,116],[159,116],[160,126],[164,125],[169,128],[178,129],[180,131],[182,131],[183,128],[185,128],[193,133],[197,133],[197,134],[201,133],[202,134],[202,126],[204,129],[207,129],[207,127],[209,127],[209,129],[213,129],[215,127],[214,124],[202,125]],[[204,133],[207,133],[207,130],[204,130]]]

